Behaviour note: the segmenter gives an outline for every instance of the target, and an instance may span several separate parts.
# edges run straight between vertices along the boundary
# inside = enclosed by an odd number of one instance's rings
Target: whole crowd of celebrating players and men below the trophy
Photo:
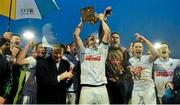
[[[119,33],[110,31],[107,15],[97,18],[100,42],[93,34],[86,44],[82,41],[81,19],[74,41],[53,43],[50,52],[33,39],[20,48],[20,36],[5,32],[0,38],[0,104],[179,104],[180,60],[170,58],[168,44],[155,49],[136,33],[127,50]]]

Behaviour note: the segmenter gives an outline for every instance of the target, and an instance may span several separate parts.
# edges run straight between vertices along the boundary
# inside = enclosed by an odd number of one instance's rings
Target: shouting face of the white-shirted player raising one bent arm
[[[141,57],[144,50],[143,44],[141,42],[134,42],[132,50],[133,50],[134,56],[138,58]]]

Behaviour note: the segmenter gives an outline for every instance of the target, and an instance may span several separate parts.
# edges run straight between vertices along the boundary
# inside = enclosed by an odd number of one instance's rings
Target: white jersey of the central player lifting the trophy
[[[107,83],[105,61],[109,45],[101,43],[97,48],[82,46],[79,50],[81,62],[81,84],[102,85]]]

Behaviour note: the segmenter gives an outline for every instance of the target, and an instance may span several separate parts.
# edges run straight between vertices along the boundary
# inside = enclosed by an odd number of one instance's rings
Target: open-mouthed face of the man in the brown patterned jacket
[[[120,37],[118,34],[112,34],[111,35],[111,45],[112,47],[119,47],[120,45]]]

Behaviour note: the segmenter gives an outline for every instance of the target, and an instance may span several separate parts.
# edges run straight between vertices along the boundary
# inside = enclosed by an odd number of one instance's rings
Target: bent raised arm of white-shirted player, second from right
[[[145,37],[140,35],[139,33],[136,33],[135,37],[137,40],[141,41],[142,43],[144,43],[148,46],[148,48],[151,52],[149,60],[150,61],[156,60],[156,58],[158,58],[159,54],[158,54],[157,50],[154,48],[153,44],[148,39],[146,39]]]

